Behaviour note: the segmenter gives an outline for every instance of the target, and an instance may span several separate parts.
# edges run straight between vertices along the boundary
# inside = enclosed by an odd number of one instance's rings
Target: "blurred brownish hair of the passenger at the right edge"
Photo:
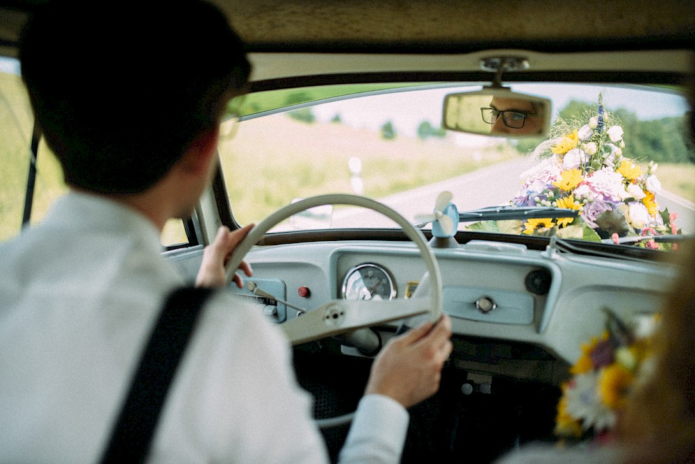
[[[617,435],[626,464],[695,462],[695,246],[677,253],[680,275],[655,335],[655,370],[630,397]]]

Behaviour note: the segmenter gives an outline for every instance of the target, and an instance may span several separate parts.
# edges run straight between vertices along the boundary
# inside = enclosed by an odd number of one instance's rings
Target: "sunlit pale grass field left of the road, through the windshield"
[[[368,129],[306,124],[286,115],[245,121],[234,139],[220,142],[232,210],[244,224],[295,198],[352,193],[348,161],[353,157],[361,160],[363,194],[378,199],[514,156],[516,151],[494,144],[472,150],[450,139],[384,140]]]

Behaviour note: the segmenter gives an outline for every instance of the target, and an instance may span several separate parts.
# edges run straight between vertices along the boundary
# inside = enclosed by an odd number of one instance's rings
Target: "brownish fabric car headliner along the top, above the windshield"
[[[45,0],[0,1],[0,54],[16,55],[15,45],[26,12],[41,3]],[[227,14],[251,52],[558,52],[692,49],[695,43],[695,2],[682,0],[213,3]]]

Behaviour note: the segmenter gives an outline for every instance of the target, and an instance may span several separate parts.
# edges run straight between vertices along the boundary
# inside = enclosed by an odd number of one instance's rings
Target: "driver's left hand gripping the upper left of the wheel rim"
[[[215,240],[203,250],[203,260],[195,278],[196,287],[223,287],[227,283],[225,265],[229,256],[241,240],[244,240],[247,233],[253,229],[253,226],[254,224],[249,224],[241,229],[236,229],[234,232],[229,231],[227,226],[220,226]],[[241,262],[239,269],[247,276],[252,274],[251,266],[246,261]],[[236,283],[238,288],[243,287],[240,276],[234,274],[232,281]]]

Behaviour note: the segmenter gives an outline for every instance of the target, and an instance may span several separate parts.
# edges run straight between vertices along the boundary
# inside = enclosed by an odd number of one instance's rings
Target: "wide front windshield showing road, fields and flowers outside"
[[[423,218],[447,191],[458,213],[489,206],[571,213],[454,215],[459,231],[612,242],[692,232],[689,107],[675,90],[509,85],[552,102],[550,135],[514,139],[442,129],[445,96],[481,85],[383,87],[332,85],[247,96],[240,122],[231,130],[225,123],[220,142],[238,222],[257,223],[297,199],[342,192],[382,201],[429,229],[432,223]],[[500,119],[509,116],[505,124],[515,124],[518,115],[494,109]],[[490,111],[476,110],[475,117],[487,115],[489,124]],[[368,210],[335,206],[274,231],[383,227],[396,225]]]

